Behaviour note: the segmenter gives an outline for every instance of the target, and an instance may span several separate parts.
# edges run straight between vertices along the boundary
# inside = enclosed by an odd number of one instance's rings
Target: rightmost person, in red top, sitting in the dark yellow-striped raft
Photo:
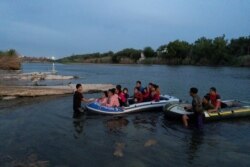
[[[208,110],[208,112],[218,112],[221,108],[221,98],[216,92],[215,87],[211,87],[209,91],[210,103],[214,106],[213,109]]]

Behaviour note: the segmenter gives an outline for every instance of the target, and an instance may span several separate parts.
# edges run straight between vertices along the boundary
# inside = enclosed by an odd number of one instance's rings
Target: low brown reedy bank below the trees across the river
[[[162,57],[150,57],[141,61],[136,61],[130,57],[112,58],[112,56],[103,57],[87,57],[77,56],[76,58],[65,57],[58,59],[56,62],[62,64],[144,64],[144,65],[191,65],[191,66],[221,66],[221,67],[250,67],[250,55],[231,57],[228,61],[222,61],[221,63],[211,62],[207,58],[201,59],[199,62],[195,62],[190,57],[182,58],[162,58]]]

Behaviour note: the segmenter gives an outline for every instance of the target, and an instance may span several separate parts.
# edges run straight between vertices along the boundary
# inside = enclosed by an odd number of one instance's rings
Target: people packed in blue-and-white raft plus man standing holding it
[[[158,85],[149,83],[147,87],[142,87],[141,81],[137,81],[134,87],[133,96],[129,96],[128,88],[123,88],[121,85],[116,85],[116,88],[109,89],[102,93],[102,97],[98,99],[87,99],[82,95],[82,85],[76,85],[76,91],[73,98],[73,109],[75,112],[83,112],[81,102],[97,101],[103,106],[107,107],[126,107],[132,103],[141,103],[147,101],[160,100],[160,88]]]

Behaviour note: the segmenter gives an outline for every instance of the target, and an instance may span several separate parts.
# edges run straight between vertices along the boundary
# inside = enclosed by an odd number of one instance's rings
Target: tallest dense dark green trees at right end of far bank
[[[224,35],[202,37],[192,44],[176,40],[160,46],[157,52],[167,64],[250,66],[250,36],[230,41]]]

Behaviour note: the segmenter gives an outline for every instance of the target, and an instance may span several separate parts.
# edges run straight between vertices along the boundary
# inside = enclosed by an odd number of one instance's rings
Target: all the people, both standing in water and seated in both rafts
[[[192,118],[189,115],[183,115],[182,121],[184,126],[188,127],[190,119],[194,119],[197,127],[203,125],[203,111],[207,112],[218,112],[221,108],[221,98],[217,93],[215,87],[211,87],[208,94],[203,99],[198,96],[197,88],[190,88],[190,96],[193,98],[192,106],[185,107],[187,111],[193,111]],[[130,99],[130,100],[129,100]],[[147,101],[159,101],[160,100],[160,88],[158,85],[149,83],[147,87],[142,87],[141,81],[136,82],[134,87],[134,94],[132,97],[128,94],[128,89],[116,85],[116,88],[104,91],[101,98],[98,99],[87,99],[82,95],[82,85],[76,85],[76,91],[73,98],[73,109],[75,112],[83,112],[81,108],[81,102],[94,102],[97,101],[103,106],[107,107],[126,107],[131,103],[141,103]]]

